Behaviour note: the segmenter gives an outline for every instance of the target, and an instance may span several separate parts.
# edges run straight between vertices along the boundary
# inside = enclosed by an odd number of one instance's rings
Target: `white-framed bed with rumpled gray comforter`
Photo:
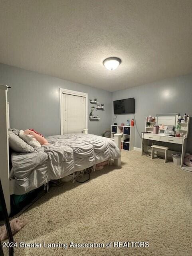
[[[121,165],[121,134],[110,139],[88,134],[88,130],[83,129],[82,134],[47,137],[49,145],[32,153],[13,152],[10,170],[7,91],[8,86],[0,85],[0,179],[8,214],[12,194],[25,194],[49,180],[63,178],[105,160],[114,159],[116,166]]]

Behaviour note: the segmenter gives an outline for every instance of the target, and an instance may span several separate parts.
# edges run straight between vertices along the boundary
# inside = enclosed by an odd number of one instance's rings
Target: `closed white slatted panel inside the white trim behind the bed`
[[[85,97],[62,94],[63,134],[81,133],[85,129]]]

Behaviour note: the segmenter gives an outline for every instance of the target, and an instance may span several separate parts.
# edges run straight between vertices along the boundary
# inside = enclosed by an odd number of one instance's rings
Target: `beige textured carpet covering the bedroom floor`
[[[192,173],[172,162],[122,152],[85,184],[51,188],[21,218],[17,242],[144,241],[148,248],[16,248],[16,256],[192,255]]]

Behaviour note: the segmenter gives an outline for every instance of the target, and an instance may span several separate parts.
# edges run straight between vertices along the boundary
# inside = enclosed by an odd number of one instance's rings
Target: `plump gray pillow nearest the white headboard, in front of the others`
[[[34,152],[34,148],[22,140],[14,132],[9,131],[9,146],[18,153],[30,153]]]

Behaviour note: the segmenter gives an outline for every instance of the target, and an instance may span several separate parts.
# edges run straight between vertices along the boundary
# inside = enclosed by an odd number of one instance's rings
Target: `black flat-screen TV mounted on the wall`
[[[135,114],[135,98],[113,101],[114,114]]]

